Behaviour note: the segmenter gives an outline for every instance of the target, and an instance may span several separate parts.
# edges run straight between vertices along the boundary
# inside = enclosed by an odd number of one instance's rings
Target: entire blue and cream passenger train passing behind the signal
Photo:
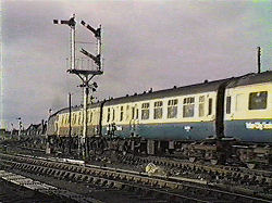
[[[52,114],[47,129],[51,142],[77,148],[83,115],[83,106]],[[89,150],[235,162],[251,168],[271,165],[272,72],[90,103],[86,139]]]

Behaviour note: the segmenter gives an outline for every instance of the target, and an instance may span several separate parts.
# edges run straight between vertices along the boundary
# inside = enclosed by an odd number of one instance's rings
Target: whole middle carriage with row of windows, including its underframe
[[[230,79],[106,101],[102,135],[133,138],[131,142],[120,143],[126,144],[122,149],[133,152],[156,154],[180,151],[180,155],[189,155],[190,158],[215,160],[218,154],[213,152],[218,147],[214,141],[208,147],[202,141],[223,137],[221,109],[224,105],[224,88]],[[193,142],[194,145],[189,144]]]

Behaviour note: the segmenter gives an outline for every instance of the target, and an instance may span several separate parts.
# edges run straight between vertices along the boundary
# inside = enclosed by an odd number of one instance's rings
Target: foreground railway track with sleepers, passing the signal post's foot
[[[129,198],[133,196],[138,202],[271,202],[226,192],[205,181],[189,182],[174,177],[150,177],[146,173],[86,165],[82,161],[2,153],[0,160],[7,168],[74,182],[88,182],[103,187],[104,191],[114,190],[123,196],[131,195]]]

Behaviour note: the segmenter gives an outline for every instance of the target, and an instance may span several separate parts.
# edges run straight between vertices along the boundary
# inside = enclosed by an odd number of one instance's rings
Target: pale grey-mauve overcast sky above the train
[[[271,1],[1,1],[2,115],[25,127],[81,103],[79,79],[66,73],[70,29],[52,20],[102,25],[104,74],[96,77],[98,99],[214,80],[272,69]],[[77,41],[96,51],[77,25]],[[87,46],[87,47],[86,47]],[[82,55],[78,53],[78,58]]]

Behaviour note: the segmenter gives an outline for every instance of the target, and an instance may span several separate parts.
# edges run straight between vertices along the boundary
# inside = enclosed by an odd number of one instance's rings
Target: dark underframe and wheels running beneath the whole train
[[[78,137],[55,137],[47,139],[48,153],[70,153],[81,156]],[[205,141],[149,140],[140,137],[87,137],[86,155],[103,154],[114,151],[123,154],[172,156],[190,162],[210,162],[211,164],[244,164],[249,168],[272,165],[272,147],[256,143],[243,143],[234,139],[207,139]]]

